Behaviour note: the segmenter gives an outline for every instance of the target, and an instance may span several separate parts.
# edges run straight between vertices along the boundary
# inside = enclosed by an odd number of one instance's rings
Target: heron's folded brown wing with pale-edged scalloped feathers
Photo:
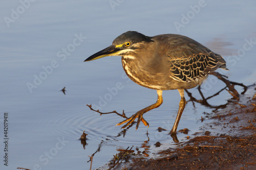
[[[183,36],[182,36],[183,37]],[[207,47],[192,39],[176,38],[171,41],[167,51],[171,77],[180,82],[195,82],[207,76],[209,72],[225,66],[224,59]]]

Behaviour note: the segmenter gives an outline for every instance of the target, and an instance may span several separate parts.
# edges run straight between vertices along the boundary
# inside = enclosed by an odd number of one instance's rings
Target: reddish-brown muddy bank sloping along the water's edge
[[[255,92],[253,87],[230,102],[178,149],[158,152],[155,159],[126,153],[110,169],[256,169]]]

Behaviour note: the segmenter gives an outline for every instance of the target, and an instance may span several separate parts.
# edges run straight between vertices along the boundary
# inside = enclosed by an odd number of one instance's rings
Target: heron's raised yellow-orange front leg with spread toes
[[[147,126],[147,128],[150,126],[146,120],[143,118],[143,114],[152,110],[152,109],[155,109],[157,107],[159,107],[162,103],[163,103],[163,98],[162,98],[162,90],[157,90],[157,95],[158,95],[158,98],[157,98],[157,102],[153,105],[150,105],[140,111],[138,111],[137,113],[135,113],[134,115],[132,115],[131,117],[127,118],[126,120],[123,120],[123,122],[120,122],[119,124],[116,124],[116,126],[118,125],[122,125],[126,122],[128,122],[126,125],[124,125],[122,128],[126,128],[127,126],[129,126],[131,123],[134,122],[134,120],[136,118],[138,118],[138,122],[137,122],[137,125],[136,125],[136,130],[138,129],[139,125],[140,125],[140,121],[145,125]]]

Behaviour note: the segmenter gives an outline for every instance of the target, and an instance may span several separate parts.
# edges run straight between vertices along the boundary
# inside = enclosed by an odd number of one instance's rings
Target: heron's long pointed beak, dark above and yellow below
[[[120,46],[110,45],[109,47],[106,47],[104,50],[101,50],[98,53],[95,53],[94,55],[88,57],[84,61],[97,60],[99,58],[106,57],[106,56],[117,56],[118,52],[121,50],[123,49]]]

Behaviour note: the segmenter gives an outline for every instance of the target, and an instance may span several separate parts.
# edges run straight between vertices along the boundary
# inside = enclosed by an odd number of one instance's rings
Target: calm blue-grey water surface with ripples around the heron
[[[92,167],[96,169],[119,149],[134,146],[153,157],[156,150],[176,147],[168,131],[157,128],[172,128],[180,101],[177,90],[163,92],[163,104],[144,115],[150,128],[141,124],[137,131],[135,127],[120,130],[115,125],[122,117],[100,116],[86,106],[92,104],[102,112],[124,110],[131,116],[156,102],[156,90],[124,75],[120,57],[83,62],[123,32],[188,36],[225,58],[230,71],[221,73],[230,80],[255,83],[255,1],[21,2],[26,3],[4,1],[0,7],[2,141],[5,112],[9,126],[8,166],[1,142],[1,169],[89,169],[88,156],[95,152]],[[121,88],[111,93],[117,84]],[[60,91],[63,87],[66,95]],[[224,87],[210,76],[202,90],[207,97]],[[197,89],[189,91],[200,99]],[[208,102],[218,106],[230,98],[224,90]],[[188,102],[178,129],[188,128],[193,136],[205,123],[201,116],[212,113],[212,108]],[[85,149],[79,140],[83,130],[88,134]],[[183,142],[187,135],[177,136]],[[160,149],[154,145],[157,141],[163,144]]]

